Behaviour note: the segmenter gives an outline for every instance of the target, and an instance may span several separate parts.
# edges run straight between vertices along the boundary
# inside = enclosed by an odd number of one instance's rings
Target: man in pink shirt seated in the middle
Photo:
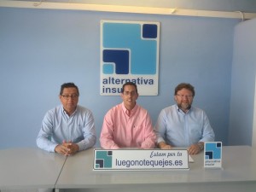
[[[137,85],[123,84],[123,102],[106,113],[100,142],[102,148],[154,148],[156,136],[148,111],[139,105]]]

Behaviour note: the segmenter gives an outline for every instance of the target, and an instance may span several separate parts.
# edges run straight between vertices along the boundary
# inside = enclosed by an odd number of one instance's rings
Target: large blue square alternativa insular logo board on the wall
[[[137,84],[142,96],[158,95],[160,23],[102,20],[101,95],[117,96]]]

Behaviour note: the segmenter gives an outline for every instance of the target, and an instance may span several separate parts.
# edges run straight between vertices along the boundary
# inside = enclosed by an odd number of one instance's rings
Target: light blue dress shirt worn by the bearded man
[[[154,130],[157,143],[166,142],[177,147],[212,142],[215,137],[207,114],[203,110],[191,107],[188,113],[183,113],[177,105],[162,109]]]

